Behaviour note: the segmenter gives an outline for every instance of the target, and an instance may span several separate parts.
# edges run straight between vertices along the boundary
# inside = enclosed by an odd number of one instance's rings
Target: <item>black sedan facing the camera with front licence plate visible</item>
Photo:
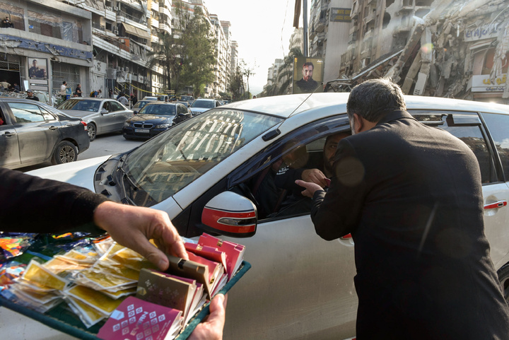
[[[124,122],[122,134],[125,139],[150,139],[191,117],[183,104],[151,102]]]

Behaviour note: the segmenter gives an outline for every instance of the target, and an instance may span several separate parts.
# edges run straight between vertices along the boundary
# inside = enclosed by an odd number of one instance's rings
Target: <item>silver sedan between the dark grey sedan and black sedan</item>
[[[71,98],[57,107],[71,116],[82,118],[88,127],[90,141],[99,134],[122,131],[133,112],[115,99]]]

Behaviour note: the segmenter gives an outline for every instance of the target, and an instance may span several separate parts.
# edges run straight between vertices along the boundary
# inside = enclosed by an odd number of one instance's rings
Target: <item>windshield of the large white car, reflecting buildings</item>
[[[281,120],[226,109],[209,111],[176,125],[125,158],[122,170],[143,189],[129,193],[129,199],[153,205],[171,197]]]

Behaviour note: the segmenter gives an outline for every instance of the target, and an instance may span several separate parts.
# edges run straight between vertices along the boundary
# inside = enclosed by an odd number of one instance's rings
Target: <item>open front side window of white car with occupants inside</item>
[[[295,180],[300,179],[303,170],[330,173],[324,170],[325,160],[331,152],[335,153],[335,148],[326,149],[330,146],[326,144],[327,137],[337,145],[349,134],[346,115],[309,124],[274,142],[235,170],[231,189],[253,201],[260,221],[310,213],[312,199],[300,194],[303,189]]]

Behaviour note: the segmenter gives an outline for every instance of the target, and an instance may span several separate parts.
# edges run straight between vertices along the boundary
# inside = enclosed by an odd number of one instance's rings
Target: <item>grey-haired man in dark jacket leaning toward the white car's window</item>
[[[474,153],[411,117],[387,79],[353,88],[346,112],[328,191],[297,183],[317,234],[355,242],[357,339],[509,339]]]

